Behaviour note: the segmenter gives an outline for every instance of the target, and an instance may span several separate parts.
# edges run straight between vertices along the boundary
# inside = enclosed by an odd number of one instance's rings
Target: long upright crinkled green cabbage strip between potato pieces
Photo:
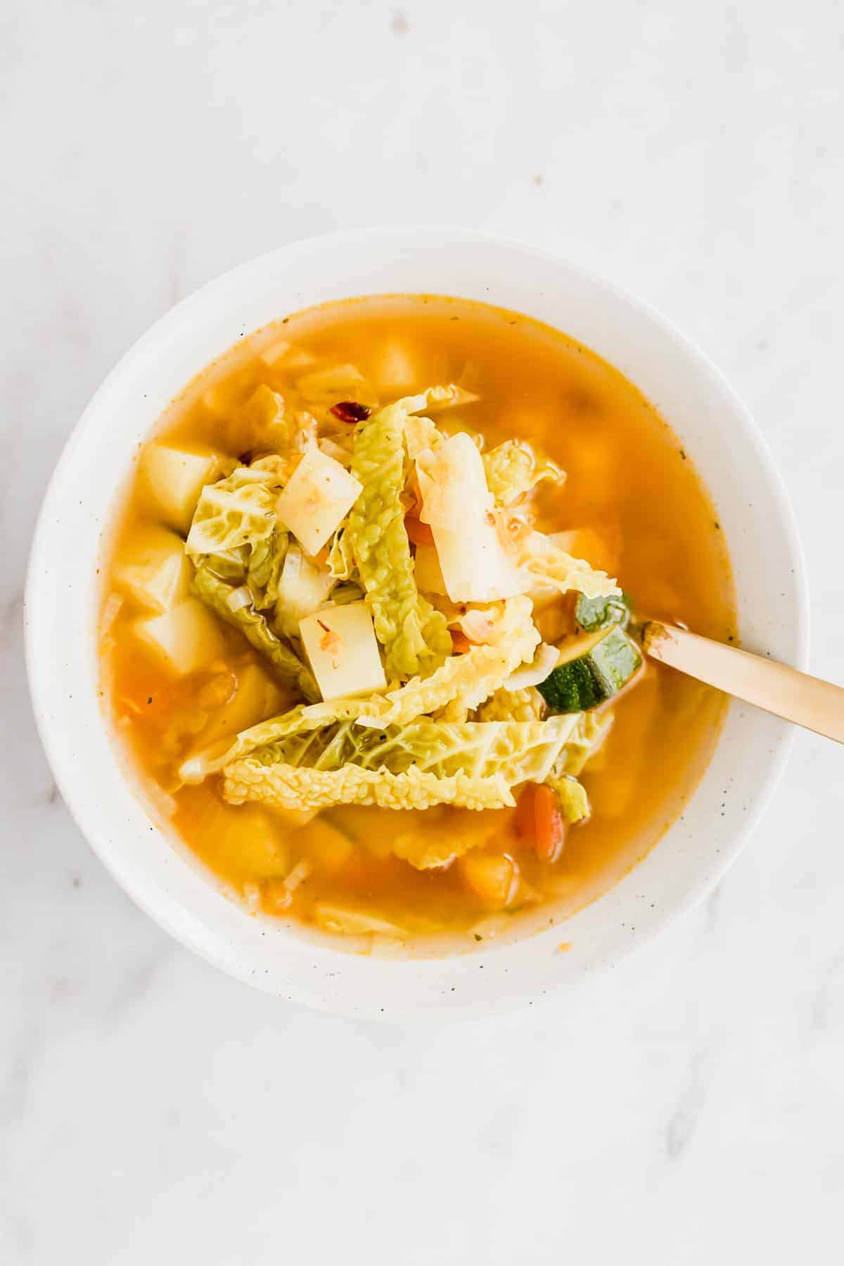
[[[405,422],[420,399],[397,400],[358,427],[352,473],[363,492],[343,536],[349,537],[391,677],[428,676],[452,649],[445,620],[416,589],[401,504]]]

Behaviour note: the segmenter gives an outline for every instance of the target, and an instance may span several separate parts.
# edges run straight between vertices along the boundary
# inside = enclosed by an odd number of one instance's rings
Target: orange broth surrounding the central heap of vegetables
[[[537,529],[577,529],[582,556],[619,577],[636,613],[683,620],[723,641],[735,637],[724,534],[677,437],[621,373],[524,316],[434,296],[328,304],[220,357],[170,406],[154,439],[187,452],[210,447],[248,463],[266,452],[256,389],[283,398],[304,376],[349,365],[378,389],[377,399],[363,387],[323,401],[325,410],[345,405],[333,409],[340,444],[343,425],[353,428],[378,405],[431,384],[458,384],[477,400],[431,414],[444,432],[481,436],[486,449],[520,438],[567,472],[562,490],[540,485]],[[143,465],[142,453],[106,568],[105,693],[156,815],[168,818],[252,910],[306,923],[316,917],[326,931],[387,939],[456,933],[456,944],[477,947],[502,928],[547,925],[582,906],[640,860],[682,810],[712,753],[725,703],[655,665],[614,700],[609,739],[582,774],[591,818],[566,828],[555,861],[538,856],[512,808],[338,805],[297,825],[262,804],[228,804],[219,775],[182,785],[178,770],[191,752],[225,747],[238,730],[301,696],[215,617],[199,665],[182,656],[175,670],[161,646],[138,636],[140,617],[151,613],[138,605],[125,568],[144,557],[162,518]],[[172,511],[170,527],[183,536],[190,519],[176,522],[180,514]],[[424,524],[416,532],[426,539]],[[413,548],[420,548],[416,541]],[[177,570],[173,558],[167,584],[190,584]],[[123,596],[116,615],[115,592]],[[572,609],[561,600],[537,614],[544,641],[571,633]],[[461,849],[471,846],[466,857],[475,861],[416,870],[395,856],[402,838],[459,842]]]

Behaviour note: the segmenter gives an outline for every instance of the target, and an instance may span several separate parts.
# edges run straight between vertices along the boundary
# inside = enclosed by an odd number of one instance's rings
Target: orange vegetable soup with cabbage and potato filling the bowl
[[[724,698],[639,646],[735,638],[706,491],[617,370],[516,313],[366,298],[244,338],[109,548],[102,696],[149,813],[349,948],[563,919],[717,741]]]

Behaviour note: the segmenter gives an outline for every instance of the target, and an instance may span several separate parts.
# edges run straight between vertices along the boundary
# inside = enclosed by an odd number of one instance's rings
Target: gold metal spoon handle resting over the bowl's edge
[[[844,743],[841,686],[655,620],[645,625],[643,647],[652,660]]]

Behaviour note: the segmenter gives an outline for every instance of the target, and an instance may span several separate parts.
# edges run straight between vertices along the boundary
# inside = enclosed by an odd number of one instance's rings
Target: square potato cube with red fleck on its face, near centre
[[[324,606],[299,624],[323,699],[385,690],[387,679],[366,603]]]

